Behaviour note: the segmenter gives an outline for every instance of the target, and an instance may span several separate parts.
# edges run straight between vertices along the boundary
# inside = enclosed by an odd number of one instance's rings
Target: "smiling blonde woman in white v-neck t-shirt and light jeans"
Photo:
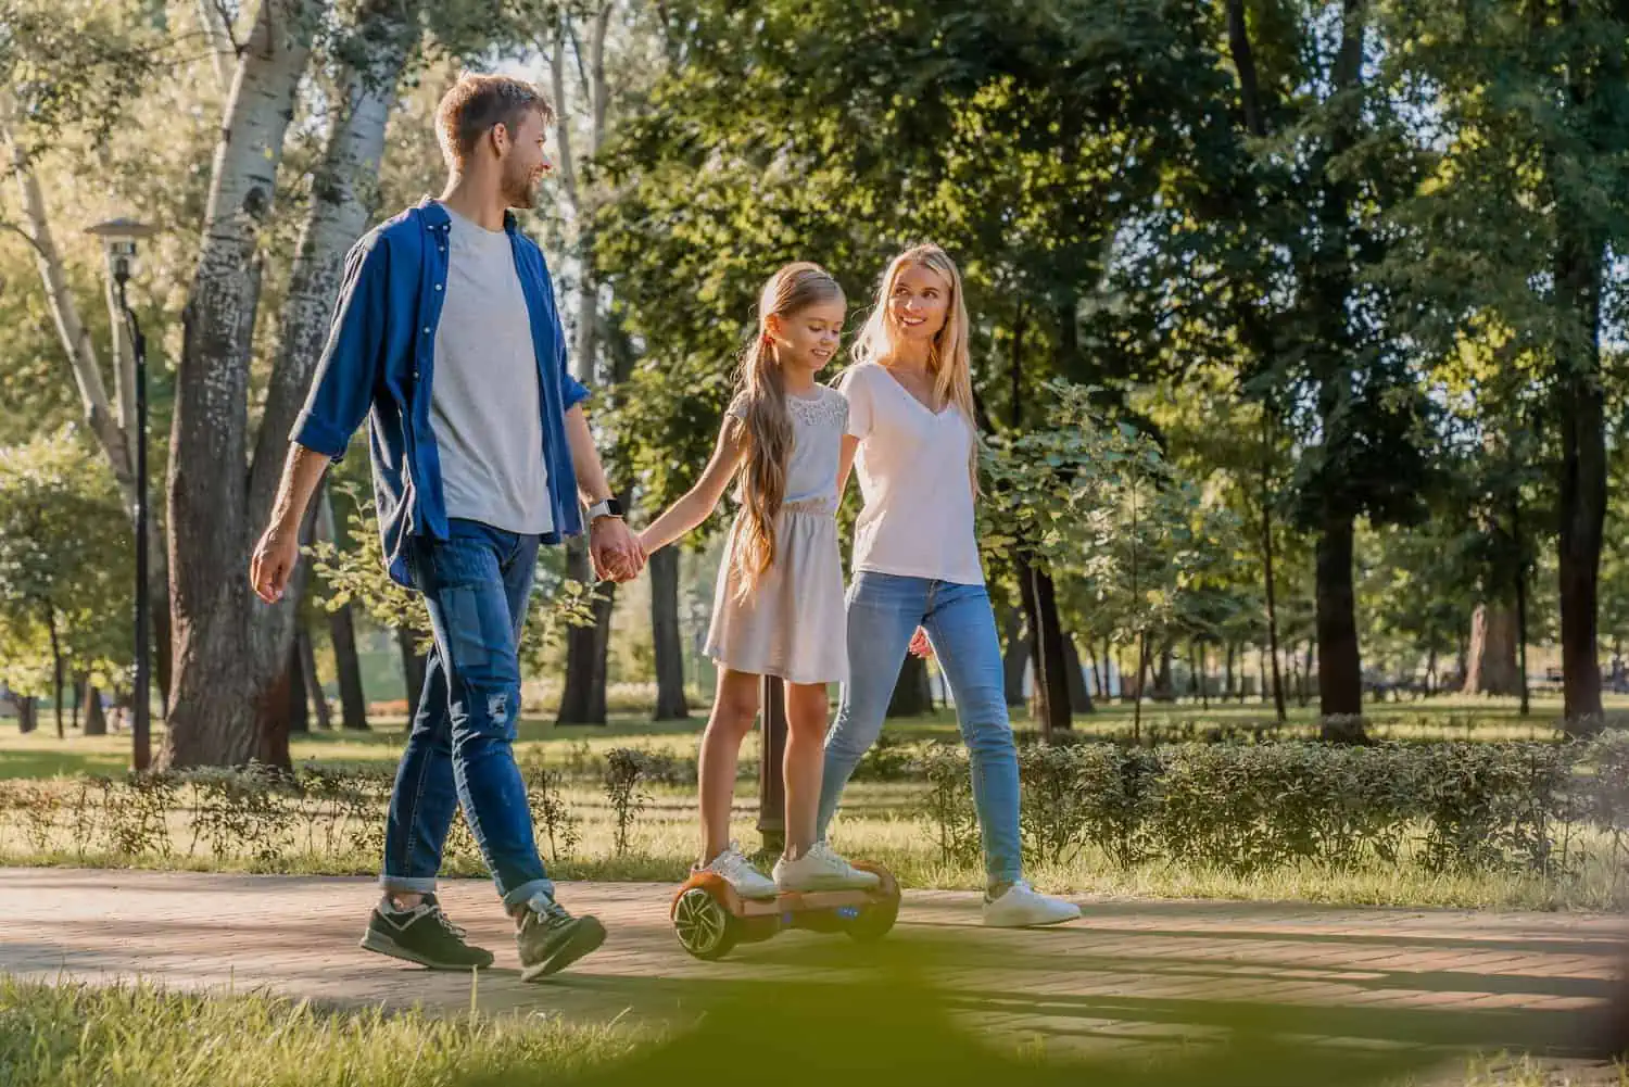
[[[839,380],[849,399],[849,433],[837,494],[854,466],[865,507],[854,530],[850,675],[826,740],[816,833],[824,836],[844,784],[883,728],[907,645],[927,652],[930,644],[973,756],[989,880],[984,924],[1072,921],[1080,916],[1077,906],[1039,895],[1023,880],[1018,753],[973,526],[979,448],[968,310],[961,274],[943,249],[917,246],[888,266],[854,362]]]

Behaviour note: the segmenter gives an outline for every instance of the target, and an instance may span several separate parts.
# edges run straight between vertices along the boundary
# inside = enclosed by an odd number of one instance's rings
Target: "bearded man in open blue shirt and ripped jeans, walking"
[[[384,895],[362,947],[432,968],[492,963],[435,900],[461,803],[515,919],[526,981],[604,940],[598,919],[554,901],[512,746],[538,546],[582,533],[580,497],[596,574],[627,580],[645,564],[595,453],[588,391],[565,370],[542,251],[508,210],[533,207],[551,169],[551,121],[547,99],[507,77],[466,75],[441,99],[446,191],[350,251],[251,564],[256,593],[277,600],[311,492],[367,416],[389,575],[424,595],[435,645],[391,792]]]

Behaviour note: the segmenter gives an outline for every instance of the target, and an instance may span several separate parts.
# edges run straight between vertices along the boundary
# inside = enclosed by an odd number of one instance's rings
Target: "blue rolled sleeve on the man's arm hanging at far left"
[[[290,442],[336,461],[345,455],[350,435],[373,407],[389,311],[386,269],[388,246],[378,235],[352,246],[327,345],[316,363],[305,407],[288,433]]]

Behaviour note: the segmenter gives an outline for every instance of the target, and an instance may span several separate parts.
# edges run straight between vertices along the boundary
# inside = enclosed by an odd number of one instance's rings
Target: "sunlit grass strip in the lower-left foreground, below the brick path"
[[[624,1056],[639,1040],[629,1028],[541,1017],[340,1012],[266,996],[47,986],[0,975],[7,1087],[551,1082]]]

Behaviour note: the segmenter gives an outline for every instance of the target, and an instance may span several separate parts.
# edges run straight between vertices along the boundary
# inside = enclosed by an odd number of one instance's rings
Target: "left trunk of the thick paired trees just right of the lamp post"
[[[257,233],[270,217],[316,15],[314,0],[262,0],[215,148],[174,381],[168,528],[176,654],[158,768],[236,764],[262,746],[256,709],[285,668],[293,631],[296,587],[279,605],[251,600],[249,487],[226,468],[248,463]]]

